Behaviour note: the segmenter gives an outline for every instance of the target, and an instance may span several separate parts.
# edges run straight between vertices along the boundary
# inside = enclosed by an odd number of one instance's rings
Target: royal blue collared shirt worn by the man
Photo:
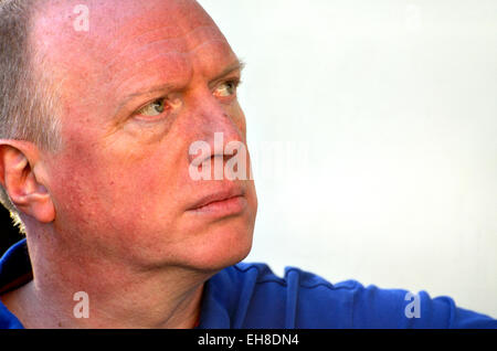
[[[32,278],[25,240],[0,258],[0,292]],[[23,328],[0,302],[0,329]],[[496,328],[497,320],[425,291],[330,284],[298,268],[283,278],[265,264],[241,263],[205,283],[199,328]]]

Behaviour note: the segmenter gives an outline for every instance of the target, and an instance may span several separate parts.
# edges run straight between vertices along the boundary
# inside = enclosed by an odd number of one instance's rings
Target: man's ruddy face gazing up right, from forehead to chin
[[[74,25],[78,3],[54,1],[33,34],[62,82],[64,146],[46,161],[61,240],[87,257],[148,267],[218,269],[243,259],[253,182],[189,173],[194,141],[213,153],[214,132],[224,145],[246,142],[230,45],[193,1],[87,1],[89,31]],[[198,209],[233,195],[241,196]]]

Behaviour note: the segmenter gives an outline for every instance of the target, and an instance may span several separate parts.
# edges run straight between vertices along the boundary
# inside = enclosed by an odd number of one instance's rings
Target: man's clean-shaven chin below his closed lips
[[[246,258],[252,249],[255,211],[216,221],[194,221],[188,217],[171,232],[159,224],[133,235],[134,249],[128,259],[142,267],[182,267],[188,270],[215,273]],[[154,233],[150,235],[150,233]],[[125,254],[125,253],[123,253]]]

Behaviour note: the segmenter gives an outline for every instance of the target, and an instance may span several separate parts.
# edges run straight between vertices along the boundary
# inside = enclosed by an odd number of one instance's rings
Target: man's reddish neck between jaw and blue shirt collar
[[[33,280],[2,297],[27,328],[193,328],[212,276],[176,266],[137,269],[30,237],[28,246]],[[77,299],[78,291],[88,299]],[[85,309],[88,318],[78,313]]]

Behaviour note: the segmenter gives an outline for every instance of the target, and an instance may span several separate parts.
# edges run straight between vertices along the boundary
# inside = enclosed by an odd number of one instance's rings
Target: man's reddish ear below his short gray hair
[[[39,149],[30,142],[0,140],[0,183],[15,208],[41,223],[55,219],[52,198],[40,181],[44,174]]]

